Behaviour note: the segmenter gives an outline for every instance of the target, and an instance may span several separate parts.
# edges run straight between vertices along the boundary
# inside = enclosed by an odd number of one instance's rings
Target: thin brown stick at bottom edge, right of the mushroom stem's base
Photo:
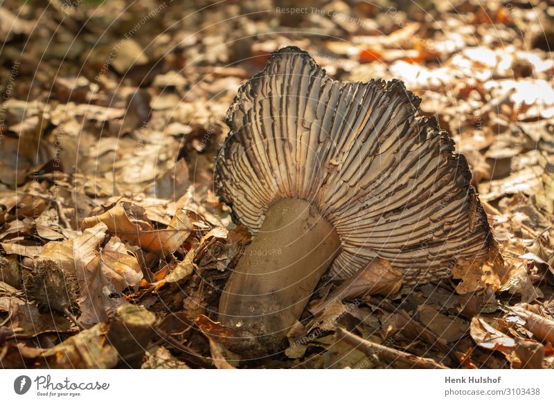
[[[356,350],[364,352],[364,354],[368,357],[371,357],[372,355],[382,355],[382,357],[384,357],[387,361],[400,361],[403,364],[409,365],[411,368],[448,369],[447,366],[438,364],[438,362],[433,359],[417,357],[413,354],[409,354],[408,352],[399,351],[395,348],[373,343],[373,341],[362,339],[361,337],[358,337],[342,328],[337,328],[336,334],[337,338],[341,339],[345,343],[348,343]]]

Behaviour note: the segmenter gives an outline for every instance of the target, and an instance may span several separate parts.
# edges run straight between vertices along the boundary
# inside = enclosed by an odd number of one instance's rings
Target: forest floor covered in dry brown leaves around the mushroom
[[[1,368],[554,368],[554,3],[278,3],[2,4]],[[213,167],[238,87],[288,45],[422,98],[501,262],[312,315],[324,287],[248,360],[215,322],[250,235]],[[116,312],[141,316],[130,353]]]

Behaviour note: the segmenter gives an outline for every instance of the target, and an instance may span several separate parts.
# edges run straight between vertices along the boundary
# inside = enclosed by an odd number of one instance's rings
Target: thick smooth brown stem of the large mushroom
[[[220,300],[220,321],[247,338],[228,341],[231,349],[276,350],[340,249],[337,231],[309,202],[280,199],[265,217]]]

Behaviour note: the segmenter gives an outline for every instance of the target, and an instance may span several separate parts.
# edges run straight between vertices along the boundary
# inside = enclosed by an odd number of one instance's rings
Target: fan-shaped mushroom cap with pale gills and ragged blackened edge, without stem
[[[311,202],[342,250],[347,278],[375,257],[404,284],[484,258],[492,236],[465,157],[400,80],[341,82],[294,46],[238,90],[216,161],[220,197],[255,235],[277,199]]]

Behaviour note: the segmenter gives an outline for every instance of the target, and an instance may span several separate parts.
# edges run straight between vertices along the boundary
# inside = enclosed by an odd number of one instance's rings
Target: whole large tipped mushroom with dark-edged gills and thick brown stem
[[[215,183],[255,237],[220,299],[242,348],[276,350],[329,267],[383,258],[413,286],[488,254],[467,161],[419,103],[399,80],[332,80],[294,46],[240,87]]]

